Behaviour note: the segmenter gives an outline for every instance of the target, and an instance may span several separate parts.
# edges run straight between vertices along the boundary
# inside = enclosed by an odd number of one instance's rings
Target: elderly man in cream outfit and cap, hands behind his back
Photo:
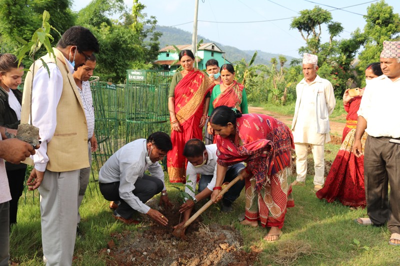
[[[304,78],[296,86],[296,105],[291,125],[297,172],[296,180],[291,185],[304,185],[307,173],[307,147],[310,145],[314,159],[315,191],[321,189],[325,182],[323,146],[330,141],[329,115],[336,104],[332,84],[316,74],[317,63],[316,55],[304,53],[302,64]]]

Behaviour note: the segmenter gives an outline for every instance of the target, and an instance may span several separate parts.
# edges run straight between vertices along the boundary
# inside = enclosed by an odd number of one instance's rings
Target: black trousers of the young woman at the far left
[[[16,224],[19,197],[22,196],[26,168],[6,171],[11,200],[9,201],[9,225]]]

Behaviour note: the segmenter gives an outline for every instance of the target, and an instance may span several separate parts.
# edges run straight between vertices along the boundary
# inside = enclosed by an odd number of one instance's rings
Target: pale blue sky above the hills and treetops
[[[133,1],[124,1],[130,9]],[[73,0],[72,9],[78,11],[89,2]],[[159,25],[193,31],[195,0],[140,2],[146,5],[145,13],[155,16]],[[344,27],[336,37],[341,39],[349,38],[357,27],[363,29],[365,19],[362,15],[366,14],[372,2],[376,0],[198,0],[197,34],[241,50],[299,57],[298,48],[304,46],[305,41],[297,29],[290,29],[290,23],[300,10],[312,9],[315,5],[329,10],[333,21],[340,22]],[[395,13],[400,13],[400,0],[386,0],[386,3],[393,6]],[[328,38],[326,27],[323,27],[321,39],[324,42]]]

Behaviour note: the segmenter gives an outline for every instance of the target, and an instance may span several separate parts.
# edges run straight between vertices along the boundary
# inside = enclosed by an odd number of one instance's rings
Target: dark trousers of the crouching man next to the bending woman
[[[237,177],[241,171],[241,169],[244,168],[244,165],[239,163],[232,165],[232,167],[229,168],[228,171],[226,171],[225,178],[223,179],[223,182],[230,182],[232,181],[235,177]],[[212,175],[201,175],[200,181],[198,181],[198,192],[200,193],[203,191],[208,183],[212,179]],[[231,203],[234,202],[239,196],[241,190],[244,188],[244,180],[239,180],[234,184],[224,195],[223,199],[228,200]]]

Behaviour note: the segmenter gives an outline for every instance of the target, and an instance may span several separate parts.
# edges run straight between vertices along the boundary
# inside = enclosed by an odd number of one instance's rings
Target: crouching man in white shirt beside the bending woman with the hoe
[[[183,225],[189,219],[195,203],[211,195],[216,180],[216,151],[216,144],[204,145],[199,139],[191,139],[184,145],[183,156],[187,159],[186,174],[189,176],[185,192],[189,194],[192,199],[187,199],[186,202],[180,206],[179,212],[183,213],[183,222],[174,228],[181,224]],[[229,166],[223,182],[232,181],[242,169],[244,169],[242,163]],[[196,189],[197,174],[200,174],[201,177],[198,182],[198,194],[194,195],[193,191]],[[190,186],[192,191],[187,186]],[[244,180],[239,180],[223,195],[222,212],[227,213],[232,211],[232,202],[240,196],[243,187]]]

